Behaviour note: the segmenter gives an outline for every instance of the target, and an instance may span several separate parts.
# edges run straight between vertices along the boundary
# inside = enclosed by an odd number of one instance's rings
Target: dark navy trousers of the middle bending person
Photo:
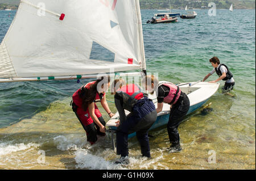
[[[121,121],[117,129],[117,154],[121,154],[121,157],[128,156],[128,134],[136,132],[137,140],[141,145],[142,155],[150,157],[148,129],[155,123],[157,117],[154,103],[148,99],[143,100],[143,104],[141,106],[135,105],[133,112],[127,115],[127,117],[118,99],[115,99],[115,106]]]

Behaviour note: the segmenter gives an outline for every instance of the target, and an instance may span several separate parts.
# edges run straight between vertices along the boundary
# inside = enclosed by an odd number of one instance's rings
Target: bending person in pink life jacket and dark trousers
[[[189,110],[190,102],[188,96],[171,82],[159,83],[154,75],[147,75],[143,79],[143,84],[150,94],[154,94],[154,91],[156,91],[158,100],[157,113],[163,110],[164,103],[170,104],[171,111],[167,123],[167,132],[171,143],[170,152],[180,152],[180,137],[177,128]]]

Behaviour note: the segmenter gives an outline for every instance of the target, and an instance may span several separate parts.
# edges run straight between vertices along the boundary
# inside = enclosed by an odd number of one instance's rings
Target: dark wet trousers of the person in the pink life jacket
[[[169,121],[167,124],[169,140],[173,145],[180,144],[180,136],[177,128],[182,122],[183,117],[187,114],[189,106],[190,103],[188,96],[184,92],[181,92],[180,98],[174,105],[172,105]]]

